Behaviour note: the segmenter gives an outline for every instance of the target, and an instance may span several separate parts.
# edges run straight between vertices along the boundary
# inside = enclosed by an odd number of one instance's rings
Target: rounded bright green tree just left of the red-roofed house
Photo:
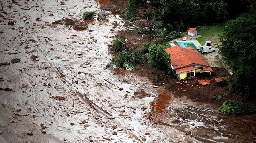
[[[167,53],[163,45],[152,45],[148,49],[147,57],[150,68],[157,72],[157,79],[159,79],[159,71],[169,71],[171,68],[171,55]]]

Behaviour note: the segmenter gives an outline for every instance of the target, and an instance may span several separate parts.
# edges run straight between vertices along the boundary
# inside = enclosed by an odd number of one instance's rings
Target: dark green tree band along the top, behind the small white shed
[[[125,11],[125,18],[146,19],[150,31],[166,28],[168,33],[220,22],[227,16],[224,0],[129,0]]]

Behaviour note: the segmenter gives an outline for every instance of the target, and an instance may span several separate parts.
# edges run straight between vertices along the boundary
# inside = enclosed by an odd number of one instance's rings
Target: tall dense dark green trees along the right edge
[[[255,1],[252,1],[252,6]],[[220,48],[225,61],[232,68],[234,79],[229,83],[230,92],[246,97],[255,95],[256,87],[256,17],[255,9],[228,22],[221,36]]]

